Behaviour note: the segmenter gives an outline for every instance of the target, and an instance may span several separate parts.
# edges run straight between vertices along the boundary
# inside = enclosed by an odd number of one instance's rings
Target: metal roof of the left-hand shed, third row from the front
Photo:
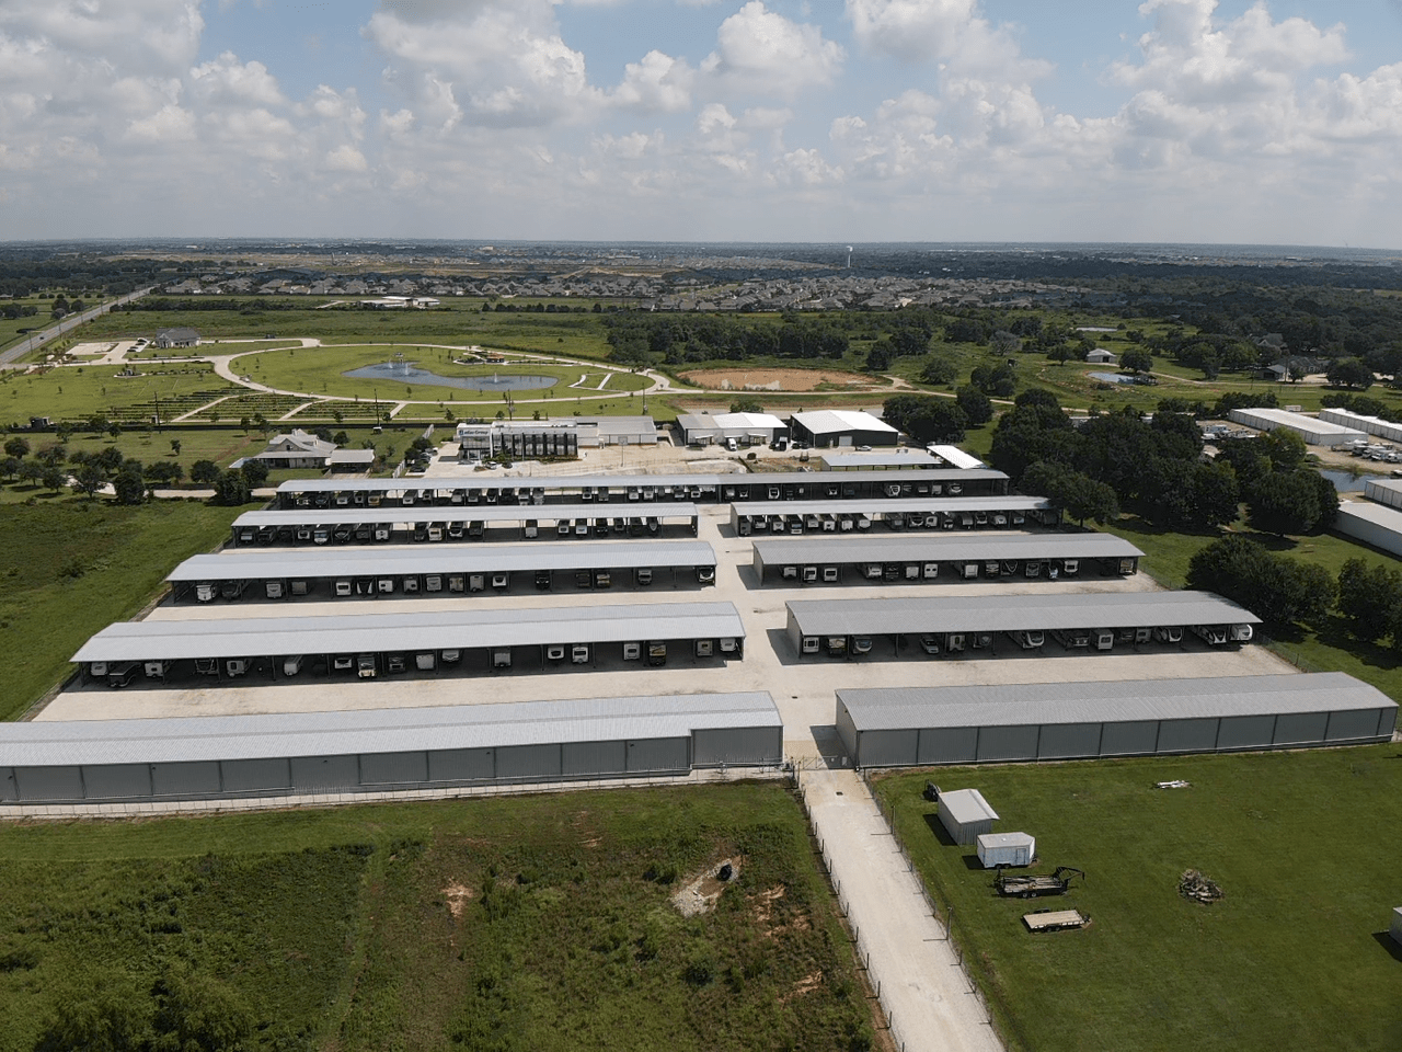
[[[714,567],[715,548],[705,541],[627,544],[579,541],[559,544],[435,544],[425,550],[318,547],[230,548],[217,555],[192,555],[167,581],[261,581],[289,576],[374,576],[394,574],[468,574],[512,569],[628,569],[634,567]]]

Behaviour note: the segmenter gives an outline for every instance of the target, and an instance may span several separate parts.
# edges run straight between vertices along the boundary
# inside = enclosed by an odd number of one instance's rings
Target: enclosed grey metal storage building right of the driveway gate
[[[1342,672],[837,692],[858,767],[1385,742],[1396,703]]]

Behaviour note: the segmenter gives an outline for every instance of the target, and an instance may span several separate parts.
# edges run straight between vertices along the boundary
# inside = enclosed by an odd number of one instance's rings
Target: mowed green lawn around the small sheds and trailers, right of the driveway
[[[1087,879],[1000,899],[974,849],[938,826],[930,778],[977,787],[995,829],[1036,836],[1033,871]],[[1192,788],[1154,788],[1172,778]],[[1402,948],[1385,934],[1402,868],[1382,832],[1402,821],[1396,745],[942,767],[876,785],[1016,1052],[1402,1048]],[[1227,898],[1180,898],[1189,868]],[[1047,908],[1092,923],[1029,934],[1022,915]]]

